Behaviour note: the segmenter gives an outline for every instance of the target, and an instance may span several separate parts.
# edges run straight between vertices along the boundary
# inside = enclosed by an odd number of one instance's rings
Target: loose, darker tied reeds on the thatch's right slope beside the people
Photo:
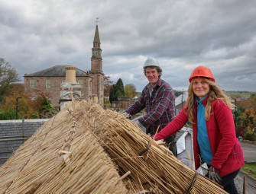
[[[131,171],[129,178],[141,185],[141,190],[155,193],[225,193],[223,189],[182,164],[151,137],[141,132],[125,116],[103,110],[96,104],[83,102],[85,125],[115,161],[122,173]],[[148,148],[148,145],[151,145]],[[141,155],[142,154],[142,155]]]

